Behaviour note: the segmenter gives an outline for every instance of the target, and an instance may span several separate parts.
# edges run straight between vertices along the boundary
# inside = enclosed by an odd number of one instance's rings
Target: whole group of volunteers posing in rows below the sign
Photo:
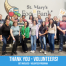
[[[20,41],[22,50],[27,53],[27,40],[31,40],[31,53],[36,52],[36,46],[41,46],[40,52],[44,52],[46,55],[46,46],[50,46],[50,52],[54,53],[55,39],[60,40],[59,52],[63,51],[63,38],[66,36],[66,15],[62,16],[60,21],[57,16],[51,18],[51,14],[45,18],[45,21],[41,19],[41,16],[33,17],[29,16],[29,20],[25,19],[25,15],[22,15],[20,19],[18,16],[10,17],[6,16],[5,20],[2,19],[0,14],[0,41],[3,41],[2,55],[7,54],[6,44],[11,38],[13,42],[11,55],[17,54],[17,45]]]

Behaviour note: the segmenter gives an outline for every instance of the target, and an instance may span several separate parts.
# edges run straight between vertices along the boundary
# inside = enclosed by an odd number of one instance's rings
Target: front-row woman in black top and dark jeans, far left
[[[0,31],[1,31],[0,35],[2,35],[2,38],[3,38],[2,55],[7,54],[6,44],[7,44],[7,40],[9,40],[9,38],[10,38],[10,26],[9,26],[10,21],[8,19],[6,19],[5,22],[6,23],[0,29]]]

